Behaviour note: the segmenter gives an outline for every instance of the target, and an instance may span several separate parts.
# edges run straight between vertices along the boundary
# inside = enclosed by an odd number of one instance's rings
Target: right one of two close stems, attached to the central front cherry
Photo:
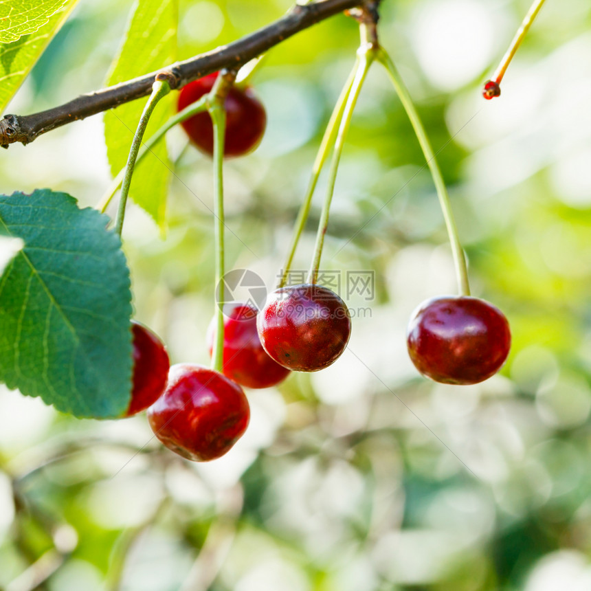
[[[328,181],[326,186],[326,197],[324,197],[324,205],[322,205],[322,213],[320,214],[320,222],[318,223],[318,232],[316,234],[316,243],[314,246],[314,256],[310,265],[308,274],[308,282],[315,283],[318,278],[318,269],[320,269],[320,258],[322,257],[322,247],[324,246],[324,236],[328,228],[328,215],[331,209],[331,202],[333,201],[333,193],[335,192],[335,182],[337,180],[337,170],[339,168],[339,161],[343,151],[343,144],[349,129],[351,117],[353,116],[353,109],[357,103],[361,86],[367,76],[368,69],[372,63],[375,49],[371,45],[362,46],[359,52],[359,61],[355,67],[355,76],[353,83],[349,89],[346,103],[342,112],[341,123],[335,142],[335,150],[333,152],[333,159],[331,160],[331,168],[328,172]]]

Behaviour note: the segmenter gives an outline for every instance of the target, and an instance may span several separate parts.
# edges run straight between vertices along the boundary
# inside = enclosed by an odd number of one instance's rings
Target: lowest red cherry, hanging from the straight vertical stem
[[[172,366],[166,391],[148,408],[155,436],[179,456],[196,462],[223,456],[244,434],[249,418],[242,388],[197,364]]]

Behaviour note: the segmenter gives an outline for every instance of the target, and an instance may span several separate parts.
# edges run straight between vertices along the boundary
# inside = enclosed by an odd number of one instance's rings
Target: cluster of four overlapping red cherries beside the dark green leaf
[[[241,386],[267,388],[289,372],[317,371],[343,353],[350,315],[339,296],[318,285],[295,285],[269,295],[260,313],[235,304],[224,315],[223,373],[198,364],[169,368],[164,344],[137,322],[133,331],[133,388],[125,416],[148,409],[159,440],[189,460],[223,456],[249,422]],[[215,337],[208,330],[210,353]]]

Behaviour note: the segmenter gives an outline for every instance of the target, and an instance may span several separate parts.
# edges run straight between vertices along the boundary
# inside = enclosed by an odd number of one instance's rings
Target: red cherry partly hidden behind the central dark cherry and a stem
[[[250,304],[234,304],[224,309],[223,373],[247,388],[275,386],[289,370],[271,359],[256,331],[257,310]],[[216,333],[215,318],[208,328],[210,355]]]

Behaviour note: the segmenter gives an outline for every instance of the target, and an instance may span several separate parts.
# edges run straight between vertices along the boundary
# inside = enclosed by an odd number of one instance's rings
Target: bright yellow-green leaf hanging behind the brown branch
[[[108,84],[115,85],[155,71],[177,59],[178,0],[137,0],[119,57]],[[156,107],[144,137],[150,137],[172,115],[172,96]],[[131,140],[146,100],[122,104],[104,115],[104,137],[113,176],[124,168]],[[129,191],[131,199],[164,228],[170,161],[166,144],[159,142],[137,165]]]

